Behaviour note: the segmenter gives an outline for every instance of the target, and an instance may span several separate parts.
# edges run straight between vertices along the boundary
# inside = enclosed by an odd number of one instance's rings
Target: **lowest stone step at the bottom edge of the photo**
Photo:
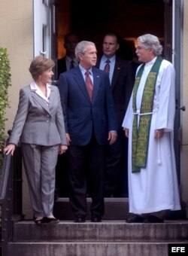
[[[181,243],[179,242],[181,245]],[[168,256],[167,242],[11,243],[10,256]]]

